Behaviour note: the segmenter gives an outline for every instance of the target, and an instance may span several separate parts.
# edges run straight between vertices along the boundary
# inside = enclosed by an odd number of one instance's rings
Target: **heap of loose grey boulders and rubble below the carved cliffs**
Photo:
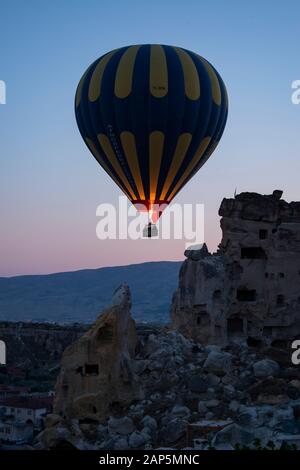
[[[143,398],[112,402],[105,419],[49,415],[36,448],[251,448],[255,439],[298,446],[300,370],[274,357],[288,360],[274,348],[202,346],[166,328],[142,332],[131,367]]]

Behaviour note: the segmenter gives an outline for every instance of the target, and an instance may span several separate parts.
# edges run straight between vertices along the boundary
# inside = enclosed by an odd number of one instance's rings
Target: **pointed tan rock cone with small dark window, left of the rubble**
[[[54,413],[101,421],[111,406],[141,398],[132,369],[137,334],[130,308],[130,291],[123,285],[92,328],[65,350]]]

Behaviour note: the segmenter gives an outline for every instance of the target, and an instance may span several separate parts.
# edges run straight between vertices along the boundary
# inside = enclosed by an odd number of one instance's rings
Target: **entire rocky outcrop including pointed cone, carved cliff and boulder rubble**
[[[64,352],[36,448],[300,448],[300,371],[282,348],[300,334],[300,203],[280,198],[223,200],[218,252],[185,253],[171,330],[137,337],[116,292]]]

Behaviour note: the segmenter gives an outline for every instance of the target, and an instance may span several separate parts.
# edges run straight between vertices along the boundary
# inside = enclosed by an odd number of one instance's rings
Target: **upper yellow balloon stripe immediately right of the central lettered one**
[[[183,69],[185,94],[190,100],[197,100],[200,98],[200,81],[193,59],[180,47],[174,47],[174,49]]]

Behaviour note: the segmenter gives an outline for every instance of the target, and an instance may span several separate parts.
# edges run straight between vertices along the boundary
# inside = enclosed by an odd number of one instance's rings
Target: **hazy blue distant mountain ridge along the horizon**
[[[90,323],[126,282],[138,322],[166,323],[181,262],[0,278],[0,321]]]

